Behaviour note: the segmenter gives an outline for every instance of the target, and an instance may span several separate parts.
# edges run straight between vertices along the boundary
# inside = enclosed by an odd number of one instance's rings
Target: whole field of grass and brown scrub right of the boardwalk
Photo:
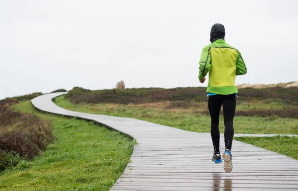
[[[298,88],[241,89],[237,98],[235,133],[298,134]],[[89,91],[74,88],[56,98],[65,109],[130,117],[195,132],[210,132],[210,117],[204,88],[140,88]],[[220,131],[224,131],[221,116]],[[298,159],[298,138],[242,138]],[[280,141],[288,147],[281,149]]]

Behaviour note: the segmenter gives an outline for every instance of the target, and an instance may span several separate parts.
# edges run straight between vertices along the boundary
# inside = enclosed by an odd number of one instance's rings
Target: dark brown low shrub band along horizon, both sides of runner
[[[282,99],[298,105],[298,87],[272,87],[264,89],[243,88],[239,90],[239,101],[253,99]],[[206,102],[207,93],[204,87],[187,88],[133,88],[91,91],[74,87],[66,96],[74,104],[78,103],[114,103],[140,104],[161,101]]]

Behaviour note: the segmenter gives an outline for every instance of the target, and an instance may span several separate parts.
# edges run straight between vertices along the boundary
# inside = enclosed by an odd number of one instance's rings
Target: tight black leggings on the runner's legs
[[[236,94],[213,95],[208,97],[208,109],[211,116],[211,137],[216,154],[220,153],[220,111],[224,110],[224,143],[225,149],[231,150],[234,136],[233,120],[236,109]]]

